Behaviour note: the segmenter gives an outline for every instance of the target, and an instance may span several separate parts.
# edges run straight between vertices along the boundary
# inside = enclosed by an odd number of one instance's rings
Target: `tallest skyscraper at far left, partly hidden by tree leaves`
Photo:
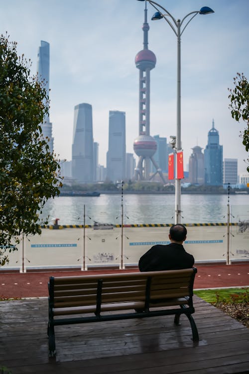
[[[46,94],[49,97],[49,43],[41,40],[37,55],[38,80],[43,82]],[[52,138],[52,123],[49,120],[49,113],[44,117],[41,125],[44,138],[48,138],[50,152],[54,150],[54,138]]]

